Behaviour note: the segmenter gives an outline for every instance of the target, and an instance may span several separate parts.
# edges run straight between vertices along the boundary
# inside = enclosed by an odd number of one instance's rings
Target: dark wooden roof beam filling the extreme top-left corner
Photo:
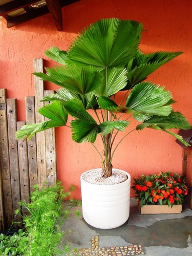
[[[24,8],[25,6],[31,5],[33,3],[36,3],[36,1],[31,0],[19,0],[19,1],[12,1],[7,4],[0,6],[0,16],[7,14],[9,12],[15,11],[20,8]]]

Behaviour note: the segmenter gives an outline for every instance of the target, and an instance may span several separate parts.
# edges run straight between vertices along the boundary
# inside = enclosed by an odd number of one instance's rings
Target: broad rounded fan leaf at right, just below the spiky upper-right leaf
[[[156,86],[151,82],[141,82],[132,89],[125,106],[138,113],[168,116],[172,106],[166,103],[171,98],[172,94],[164,90],[164,87]]]

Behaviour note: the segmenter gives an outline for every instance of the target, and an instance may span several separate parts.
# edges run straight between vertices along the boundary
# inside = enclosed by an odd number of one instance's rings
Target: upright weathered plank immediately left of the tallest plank
[[[26,97],[26,122],[35,123],[35,97]],[[28,144],[28,161],[29,161],[29,184],[30,193],[34,191],[34,185],[38,184],[38,170],[37,170],[37,148],[36,135],[31,140],[27,140]]]

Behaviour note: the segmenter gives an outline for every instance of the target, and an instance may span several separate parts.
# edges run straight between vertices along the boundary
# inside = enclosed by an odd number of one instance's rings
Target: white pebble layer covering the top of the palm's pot
[[[115,185],[128,179],[125,173],[122,173],[117,169],[113,169],[112,176],[106,179],[101,176],[101,169],[90,170],[85,173],[82,178],[84,181],[96,185]]]

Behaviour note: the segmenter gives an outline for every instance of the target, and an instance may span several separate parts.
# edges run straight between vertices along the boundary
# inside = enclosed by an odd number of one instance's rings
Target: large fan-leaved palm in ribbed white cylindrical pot
[[[94,173],[100,174],[103,184],[93,181],[95,175],[91,171],[86,172],[90,180],[81,175],[83,217],[98,228],[114,228],[129,218],[131,177],[112,165],[123,138],[134,130],[151,128],[188,145],[181,136],[167,130],[190,129],[185,117],[172,109],[172,94],[146,81],[148,75],[181,52],[143,54],[139,50],[142,28],[141,23],[133,20],[101,19],[79,34],[68,51],[57,47],[47,50],[45,55],[59,66],[47,68],[46,74],[34,74],[61,87],[42,99],[52,103],[38,110],[50,120],[27,124],[16,133],[17,139],[30,139],[50,127],[69,126],[68,115],[74,118],[70,122],[73,141],[90,142],[102,161],[102,168]],[[129,127],[132,118],[139,124],[115,144],[117,134]],[[98,135],[103,154],[94,144]],[[106,185],[106,180],[113,176],[123,177],[118,184]]]

